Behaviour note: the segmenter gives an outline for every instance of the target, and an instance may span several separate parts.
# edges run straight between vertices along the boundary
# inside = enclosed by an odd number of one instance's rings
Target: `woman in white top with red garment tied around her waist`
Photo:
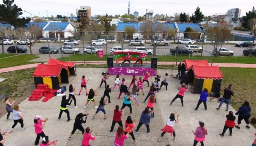
[[[179,122],[179,116],[180,114],[178,114],[177,116],[177,120],[175,120],[175,113],[171,113],[170,117],[167,118],[167,122],[166,122],[166,125],[164,128],[161,129],[161,131],[163,131],[163,133],[160,135],[160,138],[158,139],[158,141],[160,142],[162,137],[164,136],[164,134],[167,132],[167,133],[170,133],[171,136],[173,134],[173,140],[176,141],[176,138],[175,138],[175,131],[173,129],[173,125],[174,123],[178,123]]]

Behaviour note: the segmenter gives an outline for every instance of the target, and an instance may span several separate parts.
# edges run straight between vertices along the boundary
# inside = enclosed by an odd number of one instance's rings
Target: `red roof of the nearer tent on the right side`
[[[218,66],[192,65],[195,78],[201,79],[222,79],[222,74]]]

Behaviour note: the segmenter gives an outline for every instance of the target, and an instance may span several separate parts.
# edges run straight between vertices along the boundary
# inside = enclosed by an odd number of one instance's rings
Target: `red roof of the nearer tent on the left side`
[[[62,68],[64,68],[62,64],[38,64],[33,77],[58,77]]]

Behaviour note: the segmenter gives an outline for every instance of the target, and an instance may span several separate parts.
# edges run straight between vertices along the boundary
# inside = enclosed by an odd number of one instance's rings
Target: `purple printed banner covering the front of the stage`
[[[156,70],[150,68],[108,68],[109,75],[136,75],[136,76],[144,76],[146,71],[150,74],[150,76],[156,76]]]

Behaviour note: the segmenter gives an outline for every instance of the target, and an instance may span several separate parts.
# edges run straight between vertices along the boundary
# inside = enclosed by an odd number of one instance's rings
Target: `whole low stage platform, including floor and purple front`
[[[130,76],[144,76],[146,71],[150,74],[150,76],[156,76],[156,69],[151,69],[151,64],[141,64],[131,63],[132,66],[130,66],[129,63],[123,63],[122,66],[120,66],[121,63],[114,63],[113,68],[108,68],[108,74],[109,75],[130,75]]]

